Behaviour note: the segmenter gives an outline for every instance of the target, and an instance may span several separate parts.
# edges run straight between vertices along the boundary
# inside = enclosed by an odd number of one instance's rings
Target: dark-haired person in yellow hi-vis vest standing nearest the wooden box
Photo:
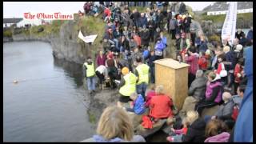
[[[138,66],[135,69],[135,75],[138,77],[136,90],[137,94],[142,94],[142,97],[145,99],[146,87],[149,84],[150,79],[150,66],[142,63],[142,57],[136,57],[136,62]]]

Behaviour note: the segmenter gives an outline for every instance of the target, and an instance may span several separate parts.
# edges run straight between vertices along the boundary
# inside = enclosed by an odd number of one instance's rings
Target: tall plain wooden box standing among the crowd
[[[182,109],[188,91],[188,67],[190,65],[164,58],[155,63],[155,86],[164,86],[164,93],[168,94],[178,110]]]

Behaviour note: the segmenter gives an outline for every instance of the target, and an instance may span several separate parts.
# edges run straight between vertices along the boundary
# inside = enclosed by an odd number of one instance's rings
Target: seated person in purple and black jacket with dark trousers
[[[202,114],[204,108],[210,108],[216,106],[222,102],[222,83],[219,82],[220,77],[211,71],[208,74],[208,82],[206,84],[206,99],[198,102],[194,110],[198,111],[198,114]]]

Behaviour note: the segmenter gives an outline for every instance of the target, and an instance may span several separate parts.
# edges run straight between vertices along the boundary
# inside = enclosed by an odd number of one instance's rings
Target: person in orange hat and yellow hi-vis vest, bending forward
[[[135,74],[133,74],[127,67],[122,68],[122,79],[121,82],[119,83],[119,102],[118,105],[122,105],[122,103],[126,103],[129,101],[132,101],[130,99],[130,94],[133,94],[136,92],[136,80],[137,77]]]

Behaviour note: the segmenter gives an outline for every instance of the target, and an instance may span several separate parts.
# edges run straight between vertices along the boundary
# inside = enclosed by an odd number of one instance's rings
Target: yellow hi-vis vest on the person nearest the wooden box
[[[137,85],[141,84],[142,82],[145,82],[146,84],[148,84],[150,66],[147,66],[146,64],[142,64],[137,66],[136,70],[138,71],[138,78],[139,78]]]

